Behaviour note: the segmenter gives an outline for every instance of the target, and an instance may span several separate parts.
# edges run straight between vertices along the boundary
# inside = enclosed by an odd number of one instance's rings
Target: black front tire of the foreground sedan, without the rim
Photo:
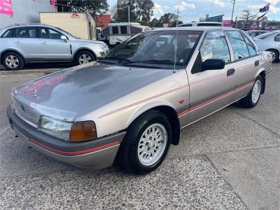
[[[139,141],[146,129],[155,123],[165,127],[165,131],[167,132],[167,144],[162,155],[158,156],[160,158],[155,163],[151,165],[143,165],[138,157]],[[132,172],[134,174],[147,174],[152,172],[162,164],[163,160],[165,160],[165,157],[169,151],[171,138],[172,130],[167,116],[165,116],[165,114],[160,111],[147,111],[146,113],[139,116],[139,118],[134,120],[132,125],[127,128],[127,134],[125,135],[125,138],[120,144],[120,148],[118,150],[116,164],[125,171]]]

